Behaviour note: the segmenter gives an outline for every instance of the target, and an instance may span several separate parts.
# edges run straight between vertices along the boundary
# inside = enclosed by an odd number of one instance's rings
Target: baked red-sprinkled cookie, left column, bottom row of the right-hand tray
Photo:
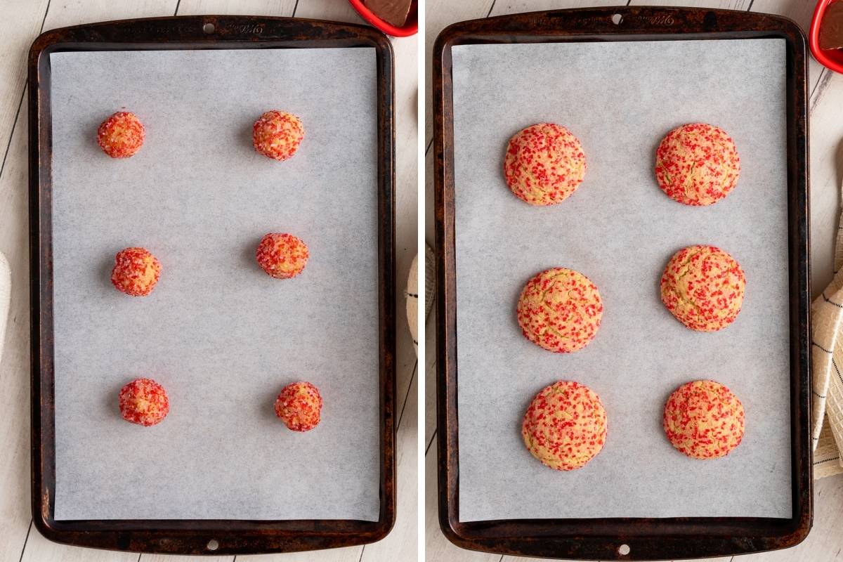
[[[546,466],[582,468],[606,442],[606,410],[591,388],[559,381],[530,402],[521,436],[527,450]]]

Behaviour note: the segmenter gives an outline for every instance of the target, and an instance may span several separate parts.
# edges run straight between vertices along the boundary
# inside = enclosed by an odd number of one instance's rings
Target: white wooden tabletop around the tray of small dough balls
[[[344,0],[7,0],[0,17],[0,252],[12,268],[12,306],[0,364],[0,562],[164,562],[187,557],[121,554],[51,543],[30,515],[30,313],[27,218],[26,57],[41,31],[110,19],[201,13],[335,19],[362,23]],[[238,556],[273,562],[416,559],[418,508],[416,354],[406,328],[404,287],[416,255],[416,37],[395,39],[398,517],[379,543],[301,554]],[[234,556],[212,559],[234,560]]]

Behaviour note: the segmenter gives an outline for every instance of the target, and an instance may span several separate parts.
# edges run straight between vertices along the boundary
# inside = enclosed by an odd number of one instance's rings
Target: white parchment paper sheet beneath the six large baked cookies
[[[459,520],[791,517],[785,40],[458,45],[454,78]],[[524,126],[568,127],[588,173],[556,206],[518,200],[502,177]],[[675,126],[721,126],[738,147],[738,187],[714,206],[670,200],[653,175]],[[747,276],[744,308],[701,334],[663,307],[678,249],[726,249]],[[520,333],[524,284],[553,266],[587,275],[603,323],[582,351],[554,354]],[[744,403],[727,458],[674,450],[661,420],[680,384],[713,378]],[[524,411],[559,379],[593,388],[604,449],[556,472],[521,440]]]

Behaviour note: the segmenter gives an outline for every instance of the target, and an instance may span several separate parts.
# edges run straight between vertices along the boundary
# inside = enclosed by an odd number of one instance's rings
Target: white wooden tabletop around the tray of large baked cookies
[[[552,8],[585,6],[674,5],[729,8],[752,12],[779,13],[808,30],[814,0],[427,0],[426,66],[430,84],[431,52],[439,32],[457,21],[486,18],[504,13],[531,12]],[[838,193],[843,179],[843,75],[835,74],[811,61],[808,88],[810,98],[810,177],[811,177],[811,286],[813,295],[829,284],[834,262],[834,241],[839,217]],[[426,129],[426,238],[433,246],[432,126],[430,98],[427,98]],[[426,553],[428,562],[526,562],[529,559],[482,554],[458,549],[444,538],[437,517],[436,480],[436,360],[434,314],[427,318],[425,361],[425,511]],[[814,484],[813,530],[793,549],[765,554],[733,557],[736,562],[831,562],[843,560],[843,475],[822,479]],[[711,559],[729,562],[730,558]],[[711,562],[711,560],[709,562]],[[705,562],[705,561],[702,561]]]

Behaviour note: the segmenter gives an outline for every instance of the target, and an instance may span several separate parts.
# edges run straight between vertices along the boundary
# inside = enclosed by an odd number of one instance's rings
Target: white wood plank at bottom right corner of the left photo
[[[410,385],[407,404],[401,415],[398,434],[398,484],[395,527],[378,543],[367,544],[361,562],[415,560],[418,549],[418,377]]]

